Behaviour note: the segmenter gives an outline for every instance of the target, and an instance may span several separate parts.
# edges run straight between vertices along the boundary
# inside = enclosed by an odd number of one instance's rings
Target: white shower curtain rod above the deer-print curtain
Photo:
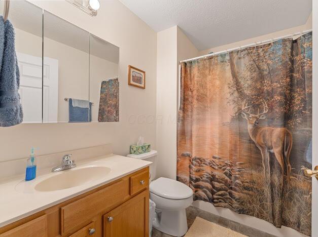
[[[199,57],[182,60],[182,61],[179,62],[179,64],[181,64],[182,62],[188,62],[188,61],[192,61],[192,60],[196,60],[196,59],[200,59],[200,58],[205,58],[205,57],[209,57],[209,56],[215,56],[215,55],[218,55],[218,54],[228,53],[228,52],[231,52],[231,51],[234,51],[234,50],[241,50],[241,49],[249,48],[249,47],[252,47],[252,46],[258,46],[258,45],[262,45],[262,44],[266,44],[266,43],[270,43],[270,42],[274,42],[274,41],[279,41],[279,39],[282,39],[282,38],[290,38],[290,37],[293,37],[295,35],[305,34],[305,33],[311,32],[311,31],[312,31],[312,29],[304,30],[304,31],[301,31],[301,32],[296,32],[296,33],[284,35],[284,36],[281,36],[281,37],[267,39],[266,41],[259,41],[259,42],[255,42],[255,43],[249,44],[249,45],[244,45],[244,46],[240,46],[240,47],[236,47],[236,48],[232,48],[232,49],[228,49],[228,50],[223,50],[223,51],[219,51],[219,52],[216,52],[216,53],[206,54],[206,55],[202,55],[202,56],[199,56]]]

